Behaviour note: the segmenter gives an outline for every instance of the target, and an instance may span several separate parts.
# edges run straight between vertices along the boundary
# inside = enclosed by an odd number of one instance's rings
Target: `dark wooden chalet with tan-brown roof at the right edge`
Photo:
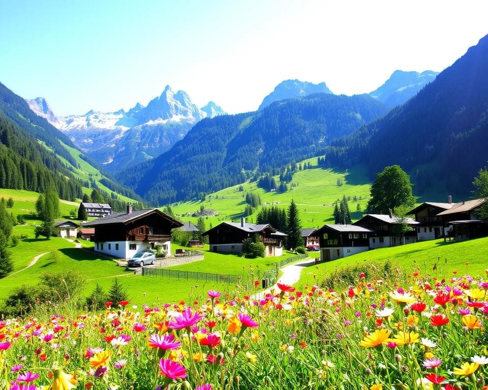
[[[476,212],[485,199],[474,199],[454,204],[449,210],[437,214],[441,220],[446,237],[456,241],[488,236],[488,223],[479,219]]]

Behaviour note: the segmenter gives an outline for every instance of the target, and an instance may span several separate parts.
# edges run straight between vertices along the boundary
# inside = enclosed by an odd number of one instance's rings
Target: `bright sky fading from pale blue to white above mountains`
[[[146,105],[169,84],[200,107],[256,110],[285,79],[370,92],[441,71],[488,34],[481,1],[0,0],[0,82],[58,115]]]

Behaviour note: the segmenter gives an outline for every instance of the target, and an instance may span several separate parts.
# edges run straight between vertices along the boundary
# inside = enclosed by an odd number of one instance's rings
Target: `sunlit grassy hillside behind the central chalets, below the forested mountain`
[[[214,209],[219,216],[205,219],[206,227],[219,224],[221,221],[237,220],[246,208],[246,192],[256,192],[261,197],[261,202],[279,202],[277,206],[287,208],[290,200],[293,199],[298,205],[303,228],[319,228],[324,223],[333,223],[333,202],[342,199],[343,195],[351,197],[349,208],[353,219],[359,219],[362,212],[356,212],[357,204],[364,210],[370,196],[370,183],[363,166],[354,166],[346,171],[333,169],[321,169],[317,166],[317,158],[310,158],[301,161],[301,164],[311,164],[311,169],[298,171],[293,175],[293,187],[288,185],[289,190],[284,193],[267,192],[258,188],[257,182],[246,182],[242,184],[244,191],[239,191],[239,185],[225,188],[221,191],[210,194],[202,201],[180,203],[172,206],[173,212],[182,220],[190,220],[194,223],[197,217],[186,216],[186,213],[193,213],[203,206],[205,209]],[[279,176],[275,176],[277,185],[280,184]],[[342,182],[338,186],[338,180]],[[353,201],[356,197],[358,200]],[[261,206],[266,207],[266,206]],[[248,217],[248,221],[255,222],[256,214]]]

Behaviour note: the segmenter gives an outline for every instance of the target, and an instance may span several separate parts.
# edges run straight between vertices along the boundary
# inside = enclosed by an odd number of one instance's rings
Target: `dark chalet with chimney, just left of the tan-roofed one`
[[[442,217],[438,214],[449,210],[454,205],[449,197],[448,203],[424,202],[410,210],[408,214],[415,215],[415,220],[419,222],[416,227],[417,241],[435,240],[444,237]]]

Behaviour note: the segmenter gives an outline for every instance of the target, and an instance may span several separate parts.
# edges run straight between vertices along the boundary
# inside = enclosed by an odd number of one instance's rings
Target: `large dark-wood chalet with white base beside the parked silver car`
[[[118,258],[131,258],[137,252],[149,250],[155,245],[171,253],[171,229],[180,228],[181,222],[158,209],[132,210],[112,213],[83,224],[95,228],[95,251]]]

